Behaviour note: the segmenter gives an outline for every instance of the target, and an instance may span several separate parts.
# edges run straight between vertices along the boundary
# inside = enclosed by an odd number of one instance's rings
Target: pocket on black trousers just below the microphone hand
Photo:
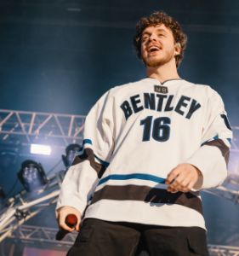
[[[90,240],[90,236],[93,230],[93,226],[84,226],[78,236],[77,239],[71,247],[71,250],[67,253],[67,256],[86,256],[87,255],[87,249],[88,249],[88,243]]]

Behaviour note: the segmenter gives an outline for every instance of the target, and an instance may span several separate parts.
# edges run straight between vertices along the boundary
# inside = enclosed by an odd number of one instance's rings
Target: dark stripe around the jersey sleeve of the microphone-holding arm
[[[71,166],[82,163],[84,160],[89,160],[90,166],[97,172],[98,177],[102,177],[106,168],[94,160],[94,152],[91,148],[85,148],[83,154],[77,155]]]

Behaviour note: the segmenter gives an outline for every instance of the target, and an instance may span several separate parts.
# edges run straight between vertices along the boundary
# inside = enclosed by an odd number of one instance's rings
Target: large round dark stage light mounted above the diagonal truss
[[[28,192],[38,189],[47,183],[43,166],[33,160],[24,161],[20,166],[20,172],[17,173],[17,176]]]

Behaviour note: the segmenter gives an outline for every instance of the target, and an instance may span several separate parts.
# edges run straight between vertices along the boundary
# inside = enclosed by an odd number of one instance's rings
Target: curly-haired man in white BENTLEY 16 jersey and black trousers
[[[88,113],[65,176],[60,229],[80,230],[69,255],[209,255],[200,189],[226,177],[231,129],[220,96],[179,78],[186,36],[164,13],[143,18],[134,47],[147,78],[107,91]]]

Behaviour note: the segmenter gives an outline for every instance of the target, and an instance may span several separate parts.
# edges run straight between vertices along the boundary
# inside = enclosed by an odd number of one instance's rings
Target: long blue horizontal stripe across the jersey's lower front
[[[150,174],[144,174],[144,173],[134,173],[134,174],[112,174],[109,175],[107,177],[103,177],[100,180],[100,183],[98,184],[98,186],[102,183],[105,183],[106,181],[108,181],[109,179],[113,179],[113,180],[128,180],[128,179],[142,179],[142,180],[150,180],[156,183],[165,183],[165,178],[162,177],[157,177],[154,175],[150,175]]]

